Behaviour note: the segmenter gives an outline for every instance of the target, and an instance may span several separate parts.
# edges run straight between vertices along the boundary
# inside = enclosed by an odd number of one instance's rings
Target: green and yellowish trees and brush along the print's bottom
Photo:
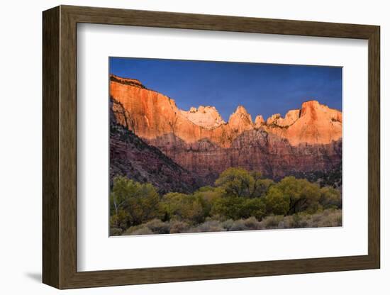
[[[158,194],[150,183],[113,179],[111,235],[341,226],[341,194],[306,179],[279,182],[229,168],[193,194]]]

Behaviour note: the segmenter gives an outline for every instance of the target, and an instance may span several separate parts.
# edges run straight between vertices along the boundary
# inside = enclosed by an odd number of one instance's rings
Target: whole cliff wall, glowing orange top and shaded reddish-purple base
[[[315,100],[267,121],[259,114],[253,122],[238,106],[225,122],[213,106],[181,110],[135,79],[111,76],[110,95],[123,106],[115,113],[119,124],[201,177],[213,179],[227,167],[282,177],[341,161],[342,113]]]

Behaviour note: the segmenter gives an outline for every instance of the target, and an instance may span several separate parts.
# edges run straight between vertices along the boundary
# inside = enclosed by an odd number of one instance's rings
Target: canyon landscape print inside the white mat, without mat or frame
[[[110,235],[342,226],[342,67],[109,58]]]

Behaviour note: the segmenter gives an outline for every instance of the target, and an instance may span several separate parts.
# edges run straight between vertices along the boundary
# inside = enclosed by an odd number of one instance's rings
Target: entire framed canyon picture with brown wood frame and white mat
[[[43,282],[380,267],[379,26],[43,12]]]

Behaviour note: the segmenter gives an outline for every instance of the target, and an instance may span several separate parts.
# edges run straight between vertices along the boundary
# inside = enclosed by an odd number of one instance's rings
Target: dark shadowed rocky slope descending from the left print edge
[[[110,181],[116,175],[125,175],[137,182],[150,182],[165,194],[169,191],[191,192],[201,183],[194,175],[162,153],[145,143],[116,122],[116,116],[128,116],[121,104],[111,99],[110,116]],[[116,113],[116,114],[115,114]]]

